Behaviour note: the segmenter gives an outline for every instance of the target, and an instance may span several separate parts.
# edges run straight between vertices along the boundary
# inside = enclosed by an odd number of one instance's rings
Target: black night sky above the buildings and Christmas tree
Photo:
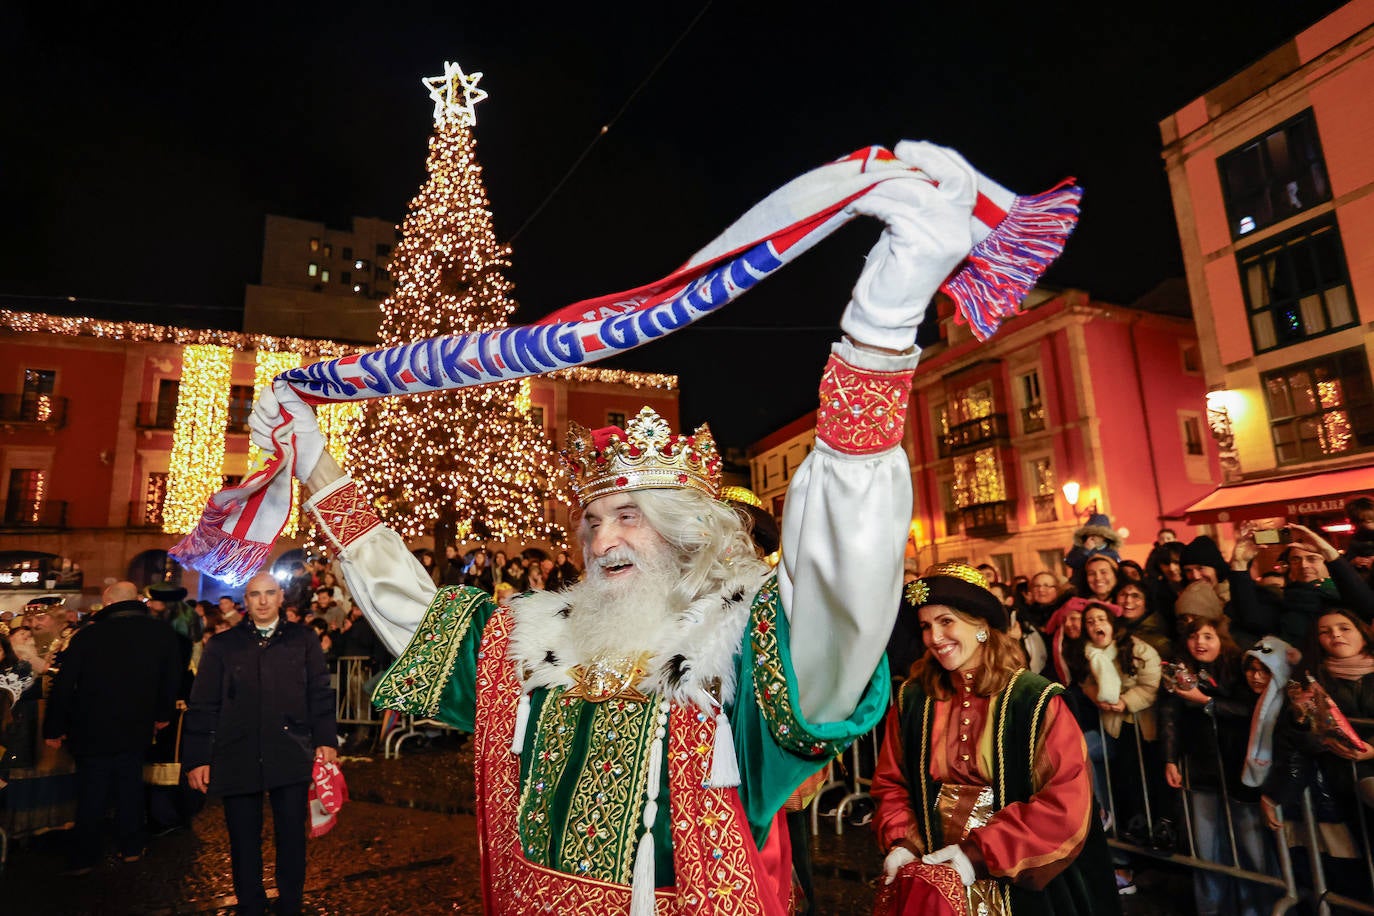
[[[265,213],[404,217],[445,59],[485,73],[517,321],[654,280],[786,180],[903,137],[1024,192],[1077,176],[1046,284],[1129,304],[1183,275],[1158,121],[1341,4],[805,5],[4,4],[0,305],[240,327]],[[813,407],[878,231],[617,365],[680,374],[684,420],[747,445]]]

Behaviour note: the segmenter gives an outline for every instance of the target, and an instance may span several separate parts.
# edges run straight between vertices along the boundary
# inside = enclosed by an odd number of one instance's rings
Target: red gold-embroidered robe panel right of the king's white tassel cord
[[[679,906],[699,916],[769,912],[758,886],[758,850],[736,791],[705,786],[714,717],[694,706],[673,706],[668,735]]]

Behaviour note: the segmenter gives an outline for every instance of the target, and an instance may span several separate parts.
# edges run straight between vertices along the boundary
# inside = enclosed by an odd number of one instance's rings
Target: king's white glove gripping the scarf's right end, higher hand
[[[938,181],[889,179],[848,210],[888,224],[855,283],[840,325],[855,341],[905,350],[940,284],[973,249],[977,173],[954,150],[904,140],[893,152]]]

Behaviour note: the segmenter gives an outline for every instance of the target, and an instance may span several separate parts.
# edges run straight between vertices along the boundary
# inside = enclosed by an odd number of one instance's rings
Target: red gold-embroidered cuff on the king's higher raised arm
[[[901,442],[914,369],[860,369],[831,356],[820,376],[816,435],[846,455],[885,452]]]

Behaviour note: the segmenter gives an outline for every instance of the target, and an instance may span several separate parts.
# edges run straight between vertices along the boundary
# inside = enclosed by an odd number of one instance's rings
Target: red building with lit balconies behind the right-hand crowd
[[[1220,479],[1191,323],[1077,290],[1037,290],[1025,310],[987,343],[947,317],[922,356],[903,441],[908,555],[992,563],[1011,581],[1058,571],[1091,511],[1127,529],[1123,556],[1142,563],[1160,527],[1191,537],[1173,516]],[[809,415],[750,450],[775,512],[813,439]]]

